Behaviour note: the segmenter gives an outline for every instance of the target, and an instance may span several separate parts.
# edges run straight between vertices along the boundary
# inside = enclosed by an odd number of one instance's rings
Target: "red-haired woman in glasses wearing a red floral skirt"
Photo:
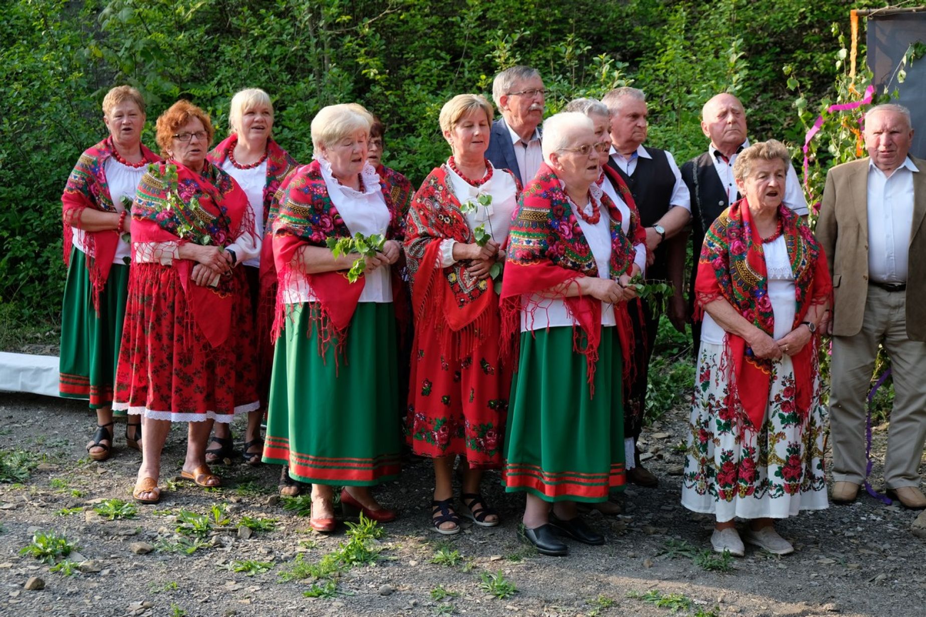
[[[206,160],[212,123],[178,101],[157,118],[168,160],[144,175],[132,204],[129,300],[114,409],[144,415],[135,500],[160,499],[171,422],[189,423],[181,477],[221,483],[206,465],[213,421],[257,409],[257,352],[243,262],[260,241],[247,195]]]

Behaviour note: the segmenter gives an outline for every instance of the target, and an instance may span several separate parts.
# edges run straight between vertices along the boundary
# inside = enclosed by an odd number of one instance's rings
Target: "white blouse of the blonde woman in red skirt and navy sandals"
[[[469,228],[475,229],[484,225],[485,230],[492,233],[492,239],[499,245],[504,245],[508,237],[508,229],[511,228],[511,216],[518,207],[518,185],[515,184],[515,179],[507,171],[493,166],[492,178],[482,186],[474,187],[465,179],[460,178],[459,174],[449,165],[446,168],[449,170],[447,179],[450,180],[450,188],[454,191],[459,203],[472,202],[478,206],[475,212],[464,213]],[[488,206],[479,204],[477,201],[480,195],[485,194],[492,195],[492,204]],[[457,262],[454,259],[455,244],[457,241],[453,238],[441,242],[442,267],[454,265]]]

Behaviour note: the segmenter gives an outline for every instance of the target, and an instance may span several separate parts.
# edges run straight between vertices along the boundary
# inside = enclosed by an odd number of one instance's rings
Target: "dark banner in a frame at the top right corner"
[[[926,158],[926,57],[903,67],[907,71],[903,83],[898,83],[895,77],[907,48],[918,41],[926,43],[926,12],[876,13],[868,18],[868,64],[874,73],[875,87],[881,93],[885,84],[894,84],[900,93],[896,103],[910,110],[916,131],[910,154]]]

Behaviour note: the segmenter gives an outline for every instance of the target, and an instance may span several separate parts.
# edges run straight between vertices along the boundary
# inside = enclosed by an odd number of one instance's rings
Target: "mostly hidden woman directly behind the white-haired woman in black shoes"
[[[611,112],[607,105],[591,98],[575,99],[563,108],[563,111],[574,111],[584,114],[592,120],[594,137],[598,140],[595,150],[598,152],[598,164],[601,166],[601,176],[596,184],[605,191],[611,202],[620,212],[620,229],[633,243],[633,263],[641,272],[646,269],[646,231],[640,225],[640,213],[633,202],[630,187],[620,174],[607,165],[611,142],[608,130],[610,127]],[[645,362],[644,346],[646,345],[645,324],[640,313],[639,298],[627,303],[628,314],[631,317],[633,340],[633,358],[631,362],[632,374],[638,375],[639,363]],[[625,371],[625,374],[627,372]],[[628,374],[629,375],[629,374]],[[646,396],[645,384],[643,391],[634,391],[636,379],[628,379],[623,383],[624,397],[624,461],[629,467],[633,464],[636,444],[632,437],[634,426],[642,426],[643,400]],[[619,514],[620,506],[611,501],[602,501],[591,504],[595,510],[603,514]]]

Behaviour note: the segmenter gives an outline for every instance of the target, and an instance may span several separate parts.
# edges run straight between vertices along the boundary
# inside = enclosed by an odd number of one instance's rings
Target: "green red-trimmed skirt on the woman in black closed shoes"
[[[589,398],[572,328],[523,332],[511,384],[502,484],[546,501],[605,501],[622,489],[624,417],[617,327],[602,328]]]

